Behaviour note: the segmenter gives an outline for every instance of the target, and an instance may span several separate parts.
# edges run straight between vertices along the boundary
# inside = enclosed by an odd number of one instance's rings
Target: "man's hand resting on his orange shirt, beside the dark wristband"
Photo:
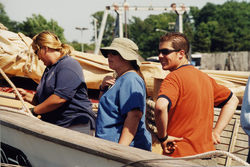
[[[172,154],[177,147],[176,141],[181,141],[183,138],[168,136],[168,139],[161,143],[163,154]]]

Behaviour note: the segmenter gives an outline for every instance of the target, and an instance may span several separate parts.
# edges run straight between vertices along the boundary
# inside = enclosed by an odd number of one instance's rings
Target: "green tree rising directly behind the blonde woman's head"
[[[26,19],[26,21],[19,24],[20,31],[26,36],[33,38],[36,34],[47,30],[55,33],[61,42],[66,43],[66,39],[63,34],[64,29],[60,27],[55,20],[51,19],[50,21],[47,21],[40,14],[32,14],[32,17],[27,17]]]

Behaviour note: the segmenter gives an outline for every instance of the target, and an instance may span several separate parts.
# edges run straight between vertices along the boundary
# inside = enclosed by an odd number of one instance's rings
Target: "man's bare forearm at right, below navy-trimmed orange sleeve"
[[[219,119],[212,132],[214,144],[221,143],[220,141],[221,132],[228,125],[229,121],[232,119],[238,103],[239,103],[238,98],[233,94],[231,99],[221,108]]]

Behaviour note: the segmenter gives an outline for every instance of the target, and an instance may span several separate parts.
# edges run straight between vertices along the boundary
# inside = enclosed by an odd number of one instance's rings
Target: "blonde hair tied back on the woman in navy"
[[[43,31],[33,37],[31,47],[34,51],[40,50],[43,46],[61,52],[61,57],[64,55],[74,56],[74,48],[61,43],[60,39],[49,31]]]

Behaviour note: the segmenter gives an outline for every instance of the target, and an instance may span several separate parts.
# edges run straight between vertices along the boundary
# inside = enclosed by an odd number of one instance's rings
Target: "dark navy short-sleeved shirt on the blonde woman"
[[[62,127],[84,124],[90,120],[92,128],[95,128],[95,113],[78,61],[66,55],[45,69],[36,90],[39,104],[52,94],[67,101],[56,110],[41,114],[41,120]]]

